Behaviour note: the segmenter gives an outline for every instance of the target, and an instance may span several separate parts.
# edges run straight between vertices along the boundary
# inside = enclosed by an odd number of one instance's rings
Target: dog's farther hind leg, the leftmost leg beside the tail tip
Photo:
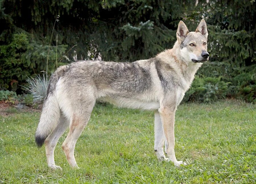
[[[63,135],[65,130],[67,130],[69,125],[68,120],[61,115],[59,118],[59,123],[56,128],[51,132],[51,134],[45,140],[45,151],[48,167],[52,169],[61,169],[60,166],[55,165],[54,161],[54,149],[57,145],[59,138]]]

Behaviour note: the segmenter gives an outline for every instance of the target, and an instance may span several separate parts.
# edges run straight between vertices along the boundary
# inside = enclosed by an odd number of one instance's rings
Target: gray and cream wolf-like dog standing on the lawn
[[[78,168],[75,144],[97,100],[118,107],[154,111],[157,158],[175,166],[186,164],[175,156],[174,117],[195,73],[209,58],[205,20],[201,20],[195,32],[189,32],[180,21],[176,36],[172,49],[148,60],[78,61],[56,69],[49,81],[35,135],[38,147],[45,144],[50,168],[61,169],[55,165],[54,149],[68,127],[62,149],[69,165]]]

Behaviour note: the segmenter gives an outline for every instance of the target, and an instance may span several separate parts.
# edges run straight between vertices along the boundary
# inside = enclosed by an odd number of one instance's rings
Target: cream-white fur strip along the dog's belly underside
[[[156,110],[160,108],[159,102],[145,102],[145,101],[139,101],[135,99],[129,99],[129,98],[100,98],[99,101],[103,102],[109,102],[113,105],[116,105],[118,107],[126,107],[131,109],[142,109],[142,110]]]

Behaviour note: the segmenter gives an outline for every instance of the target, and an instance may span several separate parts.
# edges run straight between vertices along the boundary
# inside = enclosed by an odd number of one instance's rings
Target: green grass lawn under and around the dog
[[[79,170],[61,150],[47,168],[34,133],[40,113],[0,117],[0,183],[254,183],[256,106],[239,101],[182,104],[176,112],[176,157],[187,166],[158,162],[154,113],[96,105],[77,141]]]

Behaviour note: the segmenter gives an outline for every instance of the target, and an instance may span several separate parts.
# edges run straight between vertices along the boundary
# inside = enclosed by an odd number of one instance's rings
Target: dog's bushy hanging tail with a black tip
[[[45,139],[59,122],[60,109],[55,90],[59,77],[63,75],[65,70],[66,66],[59,67],[49,81],[46,99],[44,100],[41,117],[36,129],[35,139],[38,147],[44,144]]]

